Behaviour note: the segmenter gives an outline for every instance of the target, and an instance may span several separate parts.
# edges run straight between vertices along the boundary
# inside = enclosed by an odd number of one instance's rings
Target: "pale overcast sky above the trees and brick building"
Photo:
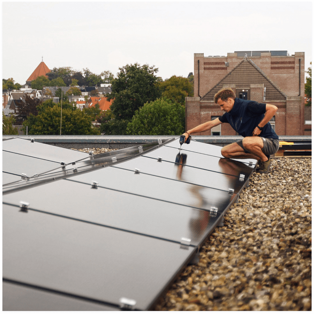
[[[311,2],[2,2],[2,77],[48,68],[114,75],[135,62],[157,76],[194,74],[194,53],[312,54]]]

